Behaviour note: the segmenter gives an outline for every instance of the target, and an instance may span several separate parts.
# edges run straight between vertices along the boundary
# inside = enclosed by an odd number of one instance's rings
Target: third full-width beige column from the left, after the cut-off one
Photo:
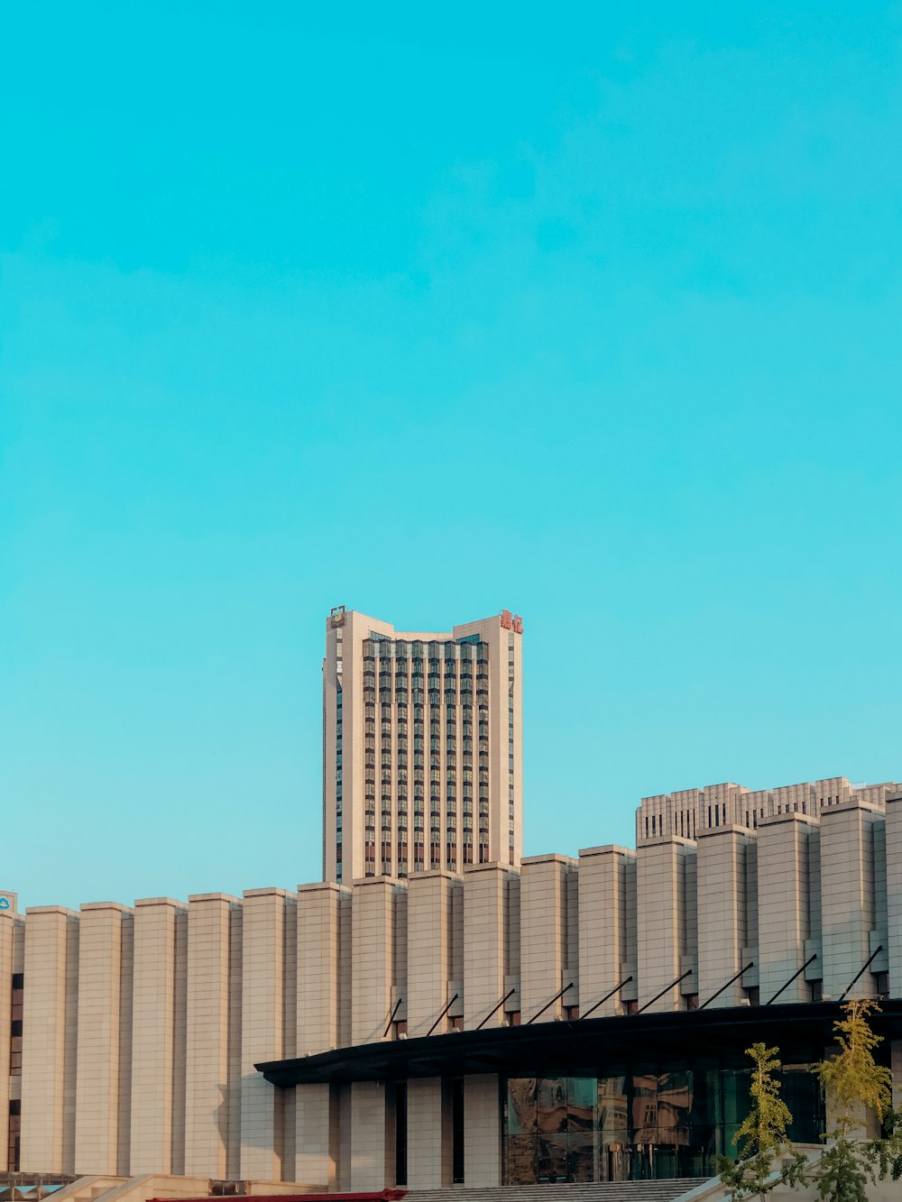
[[[135,903],[129,1171],[172,1172],[176,917],[171,898]]]

